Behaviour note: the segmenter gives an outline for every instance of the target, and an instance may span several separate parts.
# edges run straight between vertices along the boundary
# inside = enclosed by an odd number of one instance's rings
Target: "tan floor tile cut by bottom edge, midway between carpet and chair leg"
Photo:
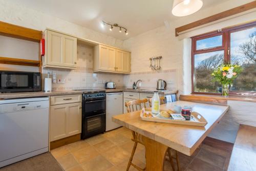
[[[84,170],[93,170],[93,171],[105,171],[113,166],[108,160],[106,160],[103,156],[99,155],[97,157],[92,158],[81,164]]]

